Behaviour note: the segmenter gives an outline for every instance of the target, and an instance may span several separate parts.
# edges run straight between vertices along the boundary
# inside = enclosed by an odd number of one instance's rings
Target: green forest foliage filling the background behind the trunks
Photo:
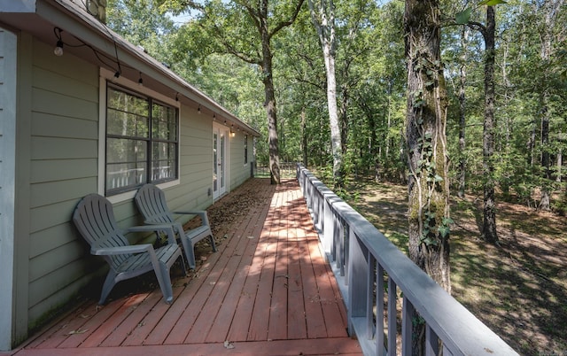
[[[403,3],[377,6],[375,2],[363,0],[336,2],[338,104],[346,123],[344,165],[349,177],[371,176],[376,180],[401,182],[408,174]],[[257,128],[262,136],[255,144],[256,156],[259,162],[266,162],[268,129],[260,66],[222,54],[213,36],[214,27],[223,26],[224,34],[234,38],[247,56],[258,57],[257,37],[249,32],[250,18],[237,15],[236,8],[240,4],[248,3],[110,0],[108,24]],[[290,4],[276,1],[272,10],[279,11]],[[459,12],[455,3],[442,3],[441,11],[444,17],[455,19],[453,24],[465,24],[482,21],[484,6],[500,4],[506,3],[498,0],[476,3],[456,15],[458,19],[451,15]],[[494,178],[506,199],[532,206],[537,203],[534,193],[541,186],[550,187],[555,193],[552,208],[560,212],[567,200],[555,183],[559,172],[557,155],[567,152],[567,111],[563,109],[567,103],[564,66],[567,10],[565,6],[558,8],[555,25],[546,27],[544,5],[548,4],[552,1],[509,0],[501,7],[504,11],[497,13]],[[200,6],[214,10],[211,15],[214,21],[206,26],[200,22],[203,19]],[[169,14],[183,12],[190,17],[183,25],[175,26]],[[551,31],[552,48],[549,58],[543,60],[540,39],[546,28]],[[442,35],[442,62],[449,98],[447,146],[452,161],[448,179],[454,187],[456,163],[465,159],[467,189],[478,196],[482,195],[485,179],[482,174],[484,41],[478,31],[471,31],[466,50],[462,48],[462,26],[443,27]],[[282,160],[301,161],[306,152],[309,166],[325,167],[324,172],[330,173],[332,157],[324,64],[307,6],[291,27],[272,38],[272,47]],[[464,61],[463,54],[466,55]],[[467,75],[464,150],[458,145],[457,89],[462,65]],[[545,144],[540,136],[542,93],[548,94],[545,109],[550,117],[549,143]],[[421,93],[412,93],[412,96],[417,104],[423,99]],[[424,148],[428,149],[429,144],[425,138]],[[552,182],[542,177],[540,157],[544,151],[550,154]],[[426,151],[420,164],[431,173],[427,176],[429,182],[441,183],[443,178],[435,174],[435,162],[428,160],[430,155],[431,151]],[[563,181],[566,160],[563,159]],[[447,227],[449,225],[447,223]],[[440,234],[446,233],[444,226],[441,224],[440,230],[438,228]]]

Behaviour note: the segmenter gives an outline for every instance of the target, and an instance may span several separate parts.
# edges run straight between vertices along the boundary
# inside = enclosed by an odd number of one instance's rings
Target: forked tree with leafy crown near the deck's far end
[[[303,0],[291,4],[277,1],[270,3],[268,0],[213,0],[203,4],[185,0],[162,1],[162,6],[174,12],[183,12],[188,8],[198,10],[197,20],[187,26],[200,27],[200,31],[192,32],[188,38],[192,42],[200,37],[197,41],[199,50],[205,53],[229,53],[252,66],[258,66],[264,85],[264,106],[268,117],[270,177],[272,183],[276,184],[280,182],[280,166],[271,41],[284,27],[293,23],[302,4]]]

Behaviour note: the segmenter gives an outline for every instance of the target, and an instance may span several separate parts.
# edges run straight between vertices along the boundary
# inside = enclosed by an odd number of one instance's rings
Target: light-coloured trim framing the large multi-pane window
[[[157,184],[160,189],[166,189],[168,187],[173,187],[180,183],[181,177],[181,104],[171,97],[166,97],[158,92],[151,89],[147,89],[144,86],[140,86],[134,81],[129,81],[124,77],[115,78],[114,74],[106,70],[105,68],[100,68],[100,83],[99,83],[99,97],[98,97],[98,194],[105,195],[105,171],[106,171],[106,82],[113,81],[113,83],[119,84],[124,88],[134,90],[138,93],[144,94],[148,97],[159,100],[164,104],[171,105],[178,110],[178,120],[177,120],[177,176],[175,181],[163,182]],[[130,200],[136,195],[136,190],[127,191],[124,193],[116,194],[110,197],[106,197],[111,203],[119,203],[125,200]]]

